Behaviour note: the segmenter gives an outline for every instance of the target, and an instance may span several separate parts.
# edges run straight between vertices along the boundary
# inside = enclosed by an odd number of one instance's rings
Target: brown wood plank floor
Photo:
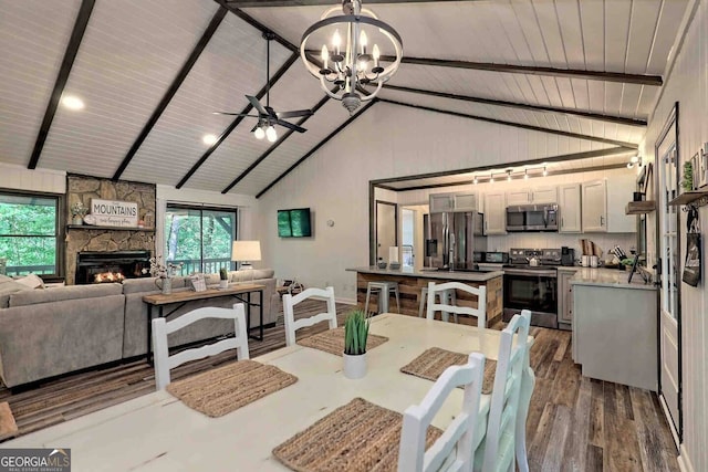
[[[304,306],[303,315],[319,310]],[[340,322],[351,308],[337,305]],[[501,329],[501,323],[492,326]],[[326,329],[326,323],[298,337]],[[678,471],[676,448],[654,392],[581,376],[571,358],[571,333],[532,327],[531,364],[537,384],[527,421],[531,471]],[[282,313],[263,342],[251,340],[251,357],[285,345]],[[180,366],[173,379],[233,359],[226,353]],[[155,390],[153,369],[144,359],[65,376],[35,388],[0,388],[19,433],[46,428]]]

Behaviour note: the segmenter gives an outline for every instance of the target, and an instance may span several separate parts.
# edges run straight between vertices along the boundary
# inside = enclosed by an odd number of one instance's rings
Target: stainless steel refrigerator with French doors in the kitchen
[[[487,250],[483,214],[472,211],[430,213],[425,228],[426,266],[475,269],[475,251]]]

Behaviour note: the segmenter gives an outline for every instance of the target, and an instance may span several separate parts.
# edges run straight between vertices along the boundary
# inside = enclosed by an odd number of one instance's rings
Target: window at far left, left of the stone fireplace
[[[8,275],[59,274],[59,196],[0,192],[0,260]]]

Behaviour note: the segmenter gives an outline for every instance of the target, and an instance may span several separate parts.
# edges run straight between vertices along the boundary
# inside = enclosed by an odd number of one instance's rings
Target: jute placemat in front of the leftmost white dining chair
[[[169,384],[167,391],[211,418],[237,410],[298,381],[275,366],[238,360]]]

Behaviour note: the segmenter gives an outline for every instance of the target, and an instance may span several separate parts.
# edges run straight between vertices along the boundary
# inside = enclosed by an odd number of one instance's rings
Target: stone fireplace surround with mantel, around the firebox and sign
[[[69,209],[77,201],[84,203],[86,208],[91,208],[92,199],[117,200],[135,202],[138,207],[139,219],[143,227],[137,228],[113,228],[90,224],[67,224],[65,237],[65,280],[66,284],[93,283],[94,280],[87,280],[86,274],[79,276],[79,263],[84,260],[83,254],[93,258],[96,262],[96,254],[106,254],[107,259],[112,259],[116,253],[142,251],[140,258],[152,256],[155,253],[155,191],[156,187],[152,183],[131,182],[131,181],[113,181],[96,177],[86,177],[77,175],[66,176],[66,221],[71,222],[72,218]],[[90,259],[91,259],[90,258]],[[123,260],[118,256],[116,259]],[[122,263],[121,263],[122,264]],[[117,265],[121,265],[117,264]],[[104,264],[108,269],[116,268],[115,263]],[[149,262],[147,262],[149,268]],[[128,274],[132,274],[132,268],[124,268]],[[104,271],[115,272],[115,271]],[[123,272],[123,276],[128,276]],[[91,273],[95,279],[95,274]],[[108,275],[106,277],[110,279]],[[113,275],[113,277],[119,277]]]

